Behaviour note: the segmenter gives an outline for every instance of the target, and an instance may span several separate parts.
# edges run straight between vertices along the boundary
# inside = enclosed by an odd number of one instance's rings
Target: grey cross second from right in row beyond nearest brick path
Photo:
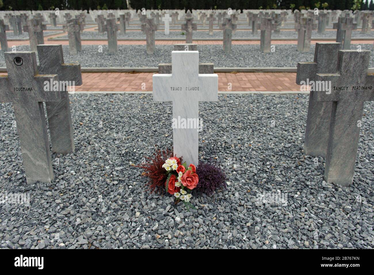
[[[298,31],[297,35],[297,50],[299,52],[310,51],[310,40],[312,39],[312,31],[316,30],[317,24],[314,23],[313,18],[300,17],[300,20],[295,24]]]

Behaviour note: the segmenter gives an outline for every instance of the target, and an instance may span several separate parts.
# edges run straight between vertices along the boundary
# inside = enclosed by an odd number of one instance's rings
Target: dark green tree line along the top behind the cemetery
[[[374,10],[374,0],[0,0],[0,10],[59,9],[353,9]]]

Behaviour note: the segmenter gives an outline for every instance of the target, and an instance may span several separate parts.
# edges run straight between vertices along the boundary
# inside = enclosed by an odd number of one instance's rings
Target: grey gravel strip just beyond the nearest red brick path
[[[109,54],[106,45],[98,52],[98,45],[82,45],[78,55],[69,54],[69,46],[63,45],[65,62],[80,62],[82,67],[158,67],[171,62],[172,45],[156,45],[153,55],[147,55],[145,45],[118,45],[117,54]],[[357,49],[356,45],[351,46]],[[212,62],[214,67],[296,67],[297,62],[312,62],[315,46],[307,53],[298,52],[296,45],[275,45],[275,52],[264,54],[260,45],[233,45],[231,54],[224,54],[222,45],[198,45],[200,62]],[[373,50],[370,44],[362,49]],[[17,46],[18,51],[30,51],[30,46]],[[0,55],[0,67],[5,66]],[[370,67],[374,67],[374,52]]]

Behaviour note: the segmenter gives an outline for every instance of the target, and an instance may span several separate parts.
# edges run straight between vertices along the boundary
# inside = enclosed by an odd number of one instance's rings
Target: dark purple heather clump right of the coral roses
[[[226,189],[226,175],[216,165],[209,163],[200,163],[196,168],[196,174],[199,175],[199,183],[196,188],[199,191],[212,195],[216,189]]]

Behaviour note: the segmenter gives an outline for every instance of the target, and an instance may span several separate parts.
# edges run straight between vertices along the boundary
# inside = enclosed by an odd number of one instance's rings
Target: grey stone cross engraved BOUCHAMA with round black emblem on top
[[[0,77],[0,102],[12,102],[28,184],[53,179],[43,102],[60,101],[57,91],[45,91],[44,82],[56,74],[37,70],[35,52],[6,52],[7,77]]]

